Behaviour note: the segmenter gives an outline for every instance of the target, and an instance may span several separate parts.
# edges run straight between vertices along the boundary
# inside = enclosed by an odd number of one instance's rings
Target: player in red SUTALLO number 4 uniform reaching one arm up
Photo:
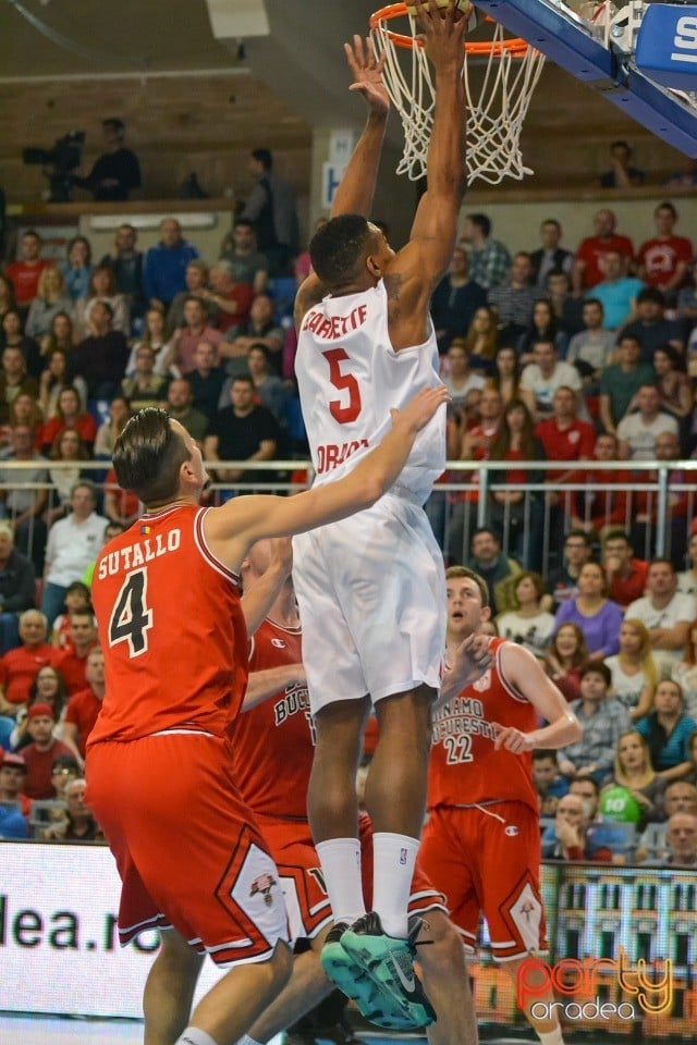
[[[255,541],[371,505],[445,401],[420,393],[350,476],[295,497],[198,508],[200,450],[163,410],[140,410],[114,447],[121,487],[146,515],[107,544],[93,597],[106,694],[87,748],[89,803],[123,883],[119,929],[168,929],[144,996],[148,1045],[236,1041],[290,973],[278,872],[231,771],[230,733],[257,626],[289,563],[243,606],[237,570]],[[264,602],[264,606],[260,605]],[[246,619],[245,619],[246,617]],[[196,801],[196,815],[191,815]],[[231,971],[189,1009],[201,956]]]

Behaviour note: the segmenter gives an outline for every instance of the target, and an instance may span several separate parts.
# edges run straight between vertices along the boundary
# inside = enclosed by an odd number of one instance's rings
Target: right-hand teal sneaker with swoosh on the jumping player
[[[364,914],[341,935],[341,948],[372,983],[386,993],[412,1026],[436,1022],[436,1012],[414,971],[418,922],[406,939],[389,936],[375,911]]]

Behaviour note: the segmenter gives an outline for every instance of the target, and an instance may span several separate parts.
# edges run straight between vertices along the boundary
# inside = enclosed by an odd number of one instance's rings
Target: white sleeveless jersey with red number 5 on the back
[[[395,352],[382,280],[358,294],[328,296],[303,320],[295,376],[316,483],[339,479],[389,431],[392,408],[441,383],[432,323],[428,341]],[[395,487],[424,503],[444,467],[443,406],[418,433]]]

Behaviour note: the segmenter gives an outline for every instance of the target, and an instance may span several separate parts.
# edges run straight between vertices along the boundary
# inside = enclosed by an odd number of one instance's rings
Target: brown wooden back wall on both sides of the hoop
[[[46,182],[37,168],[21,162],[23,146],[50,147],[66,131],[88,135],[86,159],[100,151],[100,120],[120,115],[129,144],[140,157],[149,199],[178,195],[195,171],[211,197],[244,197],[250,187],[249,149],[271,147],[278,169],[306,196],[310,179],[311,121],[277,97],[246,71],[239,75],[167,79],[60,81],[0,84],[0,185],[11,201],[37,199]],[[322,98],[317,120],[326,124]],[[523,183],[503,183],[498,192],[588,187],[608,168],[610,143],[627,138],[636,165],[660,185],[686,159],[625,116],[601,95],[563,70],[548,65],[523,132],[524,157],[535,174]],[[75,198],[87,199],[86,194]]]

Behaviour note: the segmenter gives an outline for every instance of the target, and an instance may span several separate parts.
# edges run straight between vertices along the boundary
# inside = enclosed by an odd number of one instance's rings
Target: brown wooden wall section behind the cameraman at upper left
[[[11,201],[37,198],[39,168],[22,164],[22,148],[50,148],[69,131],[85,131],[89,163],[101,151],[100,121],[119,115],[137,152],[144,198],[171,198],[195,171],[210,196],[244,196],[253,180],[248,152],[277,155],[279,172],[299,193],[309,183],[310,127],[266,84],[246,73],[210,77],[60,81],[0,85],[0,184]],[[75,199],[87,194],[75,193]]]

